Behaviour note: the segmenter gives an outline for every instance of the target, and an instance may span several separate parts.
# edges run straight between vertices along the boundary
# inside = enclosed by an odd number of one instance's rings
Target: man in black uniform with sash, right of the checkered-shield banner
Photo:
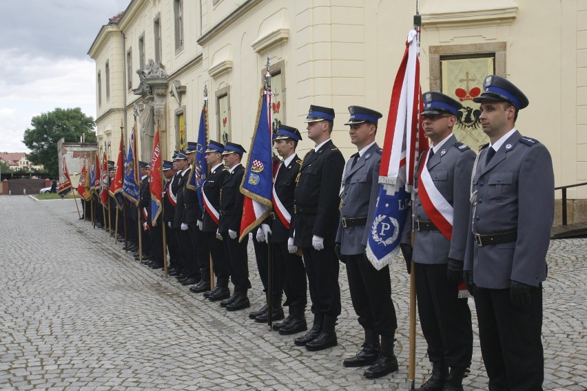
[[[274,324],[274,330],[280,335],[292,335],[308,329],[305,310],[307,305],[307,282],[304,263],[298,253],[289,253],[287,241],[291,229],[291,216],[294,214],[294,190],[296,178],[302,161],[296,154],[298,141],[302,139],[300,131],[287,125],[279,125],[274,136],[274,146],[283,159],[274,170],[274,203],[271,211],[270,244],[273,251],[273,313],[283,314],[281,306],[282,292],[287,297],[289,315],[281,323]],[[258,229],[257,239],[265,240],[263,226]],[[276,319],[274,315],[274,320]],[[267,313],[260,314],[255,321],[266,323]]]

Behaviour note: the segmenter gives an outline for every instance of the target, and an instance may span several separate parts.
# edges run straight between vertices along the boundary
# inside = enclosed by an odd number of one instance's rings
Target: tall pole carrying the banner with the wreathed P
[[[420,0],[416,0],[416,13],[414,15],[414,30],[416,32],[416,43],[418,44],[418,56],[420,56],[420,28],[422,26],[422,16],[420,15]],[[418,81],[419,83],[419,81]],[[420,105],[418,105],[420,107]],[[420,110],[418,110],[418,124],[420,123]],[[415,199],[414,187],[411,189],[412,202]],[[412,232],[411,232],[411,246],[414,245],[414,215],[412,207]],[[416,293],[415,293],[415,264],[413,257],[410,261],[410,349],[409,349],[409,364],[408,364],[408,390],[413,390],[415,385],[415,326],[416,326]]]

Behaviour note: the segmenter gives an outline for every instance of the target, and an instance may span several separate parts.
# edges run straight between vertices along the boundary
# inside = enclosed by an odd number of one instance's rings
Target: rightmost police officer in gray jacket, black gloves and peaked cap
[[[553,162],[515,129],[528,98],[487,76],[481,125],[489,136],[473,171],[464,270],[473,288],[490,390],[542,390],[542,282],[554,220]],[[473,286],[474,284],[474,286]]]

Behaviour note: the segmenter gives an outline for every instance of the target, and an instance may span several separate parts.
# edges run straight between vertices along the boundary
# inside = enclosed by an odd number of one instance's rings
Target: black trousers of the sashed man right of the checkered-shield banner
[[[306,308],[307,282],[302,257],[287,251],[287,242],[271,243],[273,248],[274,292],[285,293],[285,306]]]

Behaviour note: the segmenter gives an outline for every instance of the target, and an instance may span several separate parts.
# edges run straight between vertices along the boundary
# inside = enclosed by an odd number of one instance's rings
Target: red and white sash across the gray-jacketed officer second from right
[[[420,170],[418,171],[418,195],[426,215],[442,235],[451,240],[453,235],[453,207],[434,185],[428,167],[426,167],[429,156],[429,152],[426,151],[426,156],[421,162]]]

